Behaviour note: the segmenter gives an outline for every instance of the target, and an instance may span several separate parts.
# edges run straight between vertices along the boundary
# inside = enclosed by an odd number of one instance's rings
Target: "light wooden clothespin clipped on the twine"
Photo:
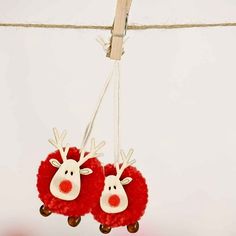
[[[120,60],[123,55],[123,40],[128,26],[128,17],[132,0],[117,0],[116,15],[112,29],[111,46],[107,57]]]

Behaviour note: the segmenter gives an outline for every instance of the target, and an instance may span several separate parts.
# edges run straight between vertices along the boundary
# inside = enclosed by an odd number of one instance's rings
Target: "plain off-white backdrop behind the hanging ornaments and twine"
[[[1,22],[112,24],[115,0],[0,0]],[[130,23],[236,21],[234,0],[134,0]],[[79,145],[112,62],[109,32],[0,28],[0,235],[100,235],[39,215],[36,174],[51,128]],[[133,147],[150,199],[137,236],[236,235],[236,28],[128,32],[122,146]],[[93,136],[113,160],[112,91]],[[137,196],[138,197],[138,196]],[[25,236],[24,235],[24,236]],[[27,235],[27,236],[28,236]],[[128,235],[116,229],[111,235]]]

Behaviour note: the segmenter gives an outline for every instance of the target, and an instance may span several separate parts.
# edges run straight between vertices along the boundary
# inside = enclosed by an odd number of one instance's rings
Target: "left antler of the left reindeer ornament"
[[[63,141],[66,137],[67,132],[64,130],[62,134],[58,132],[56,128],[53,128],[54,139],[49,139],[49,143],[51,143],[56,149],[60,151],[61,158],[64,161],[67,160],[67,154],[69,151],[69,144],[66,144],[65,150],[63,149]]]

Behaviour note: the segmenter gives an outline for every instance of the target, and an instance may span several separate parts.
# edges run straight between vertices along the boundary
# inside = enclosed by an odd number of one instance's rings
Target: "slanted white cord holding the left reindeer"
[[[91,117],[91,120],[90,120],[90,122],[88,123],[88,125],[86,127],[86,130],[85,130],[85,133],[84,133],[84,137],[83,137],[83,140],[82,140],[82,144],[81,144],[81,154],[84,154],[83,152],[85,151],[86,144],[87,144],[87,142],[88,142],[88,140],[90,138],[90,135],[91,135],[91,132],[92,132],[92,129],[93,129],[93,126],[94,126],[94,122],[95,122],[95,119],[96,119],[96,116],[97,116],[97,114],[99,112],[99,109],[100,109],[100,106],[102,104],[103,98],[104,98],[104,96],[105,96],[105,94],[107,92],[107,89],[108,89],[109,84],[110,84],[110,82],[111,82],[111,80],[113,78],[113,74],[116,71],[116,68],[117,68],[117,63],[115,62],[114,65],[113,65],[112,71],[109,74],[107,81],[105,82],[105,86],[104,86],[104,88],[102,90],[102,93],[101,93],[100,98],[98,100],[98,104],[97,104],[97,106],[95,108],[95,111],[94,111],[92,117]]]

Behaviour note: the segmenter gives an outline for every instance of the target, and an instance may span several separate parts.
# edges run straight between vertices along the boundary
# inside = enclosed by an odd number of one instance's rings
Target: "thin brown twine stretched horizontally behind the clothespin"
[[[74,24],[0,23],[0,27],[112,30],[112,26],[109,26],[109,25],[74,25]],[[127,29],[128,30],[151,30],[151,29],[171,30],[171,29],[213,28],[213,27],[236,27],[236,22],[195,23],[195,24],[132,24],[132,25],[128,25]]]

